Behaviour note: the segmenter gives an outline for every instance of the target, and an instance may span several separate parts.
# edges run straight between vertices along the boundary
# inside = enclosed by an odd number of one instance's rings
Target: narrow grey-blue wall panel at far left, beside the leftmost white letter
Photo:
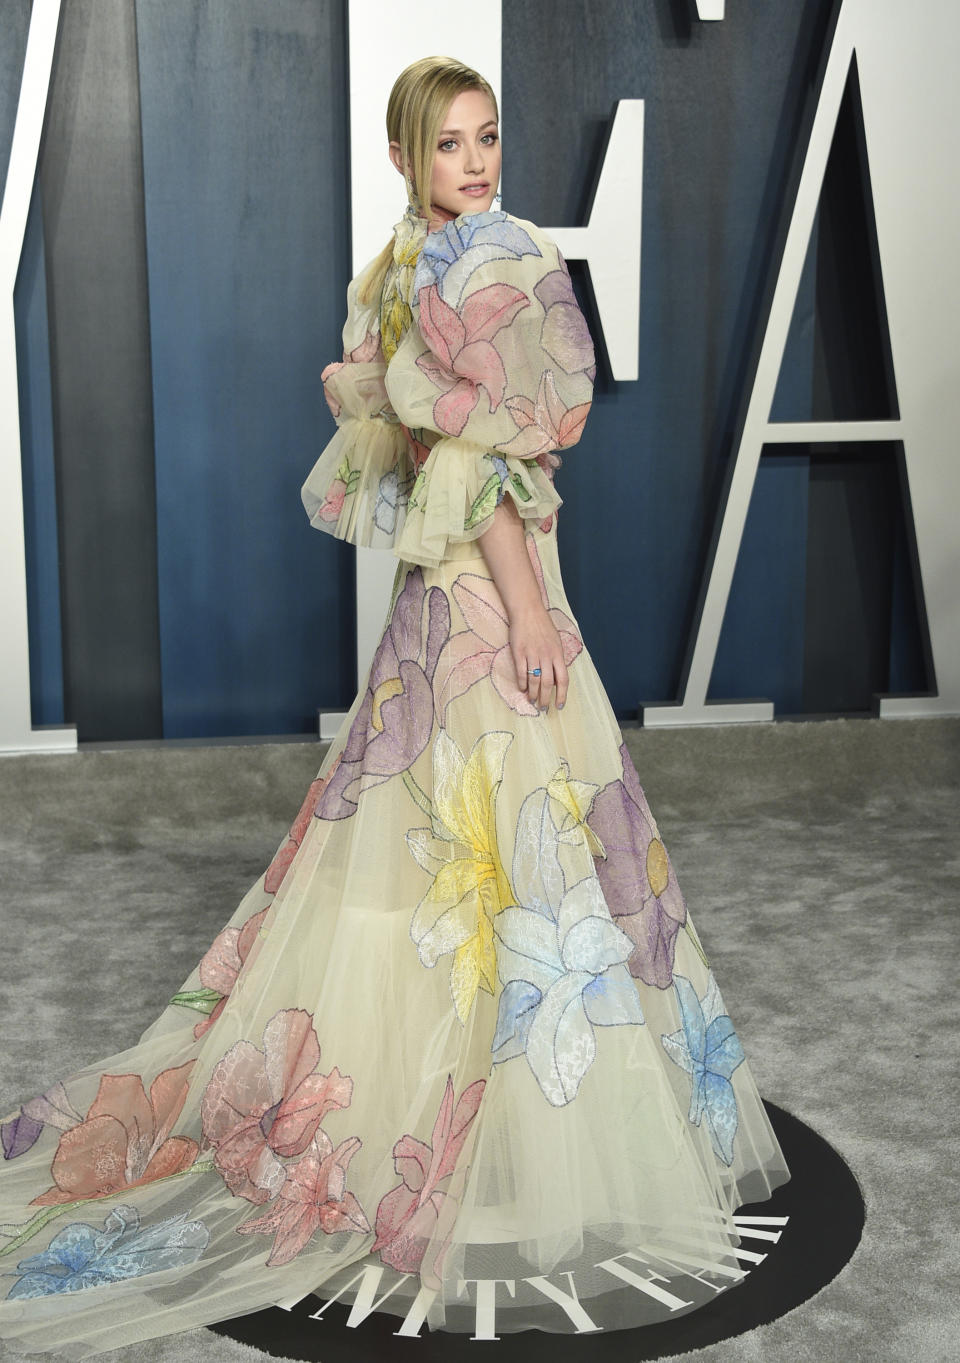
[[[161,732],[155,495],[134,11],[63,8],[40,162],[65,718]]]

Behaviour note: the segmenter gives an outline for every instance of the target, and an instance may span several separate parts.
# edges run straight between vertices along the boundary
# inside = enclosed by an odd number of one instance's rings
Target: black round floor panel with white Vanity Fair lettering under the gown
[[[349,1307],[307,1296],[290,1311],[271,1307],[210,1326],[274,1358],[316,1363],[460,1363],[484,1353],[496,1363],[641,1363],[664,1355],[705,1348],[743,1334],[791,1311],[836,1277],[856,1249],[863,1231],[863,1198],[856,1179],[837,1152],[790,1112],[765,1104],[783,1146],[791,1180],[755,1206],[736,1212],[740,1249],[762,1254],[735,1288],[709,1298],[695,1310],[633,1330],[554,1334],[540,1330],[503,1333],[495,1340],[425,1326],[415,1338],[397,1336],[397,1315],[374,1313],[361,1325],[346,1325]],[[770,1217],[751,1227],[753,1217]],[[781,1224],[781,1219],[783,1224]],[[747,1223],[746,1225],[743,1223]],[[760,1232],[754,1238],[750,1232]],[[772,1239],[770,1236],[777,1236]],[[747,1268],[747,1264],[743,1265]],[[702,1287],[702,1284],[701,1284]],[[630,1291],[630,1288],[625,1288]]]

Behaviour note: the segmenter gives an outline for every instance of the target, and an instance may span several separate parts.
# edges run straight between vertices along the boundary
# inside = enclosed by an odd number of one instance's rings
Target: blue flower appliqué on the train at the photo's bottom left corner
[[[7,1298],[82,1292],[101,1283],[195,1264],[209,1240],[203,1221],[188,1221],[185,1213],[140,1229],[135,1206],[115,1206],[102,1229],[74,1221],[53,1236],[42,1254],[22,1259],[16,1269],[23,1277]]]

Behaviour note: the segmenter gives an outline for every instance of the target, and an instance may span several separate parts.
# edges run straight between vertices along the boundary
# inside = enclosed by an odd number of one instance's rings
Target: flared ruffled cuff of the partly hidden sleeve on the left
[[[413,484],[404,428],[342,414],[300,496],[310,523],[360,548],[390,549]]]

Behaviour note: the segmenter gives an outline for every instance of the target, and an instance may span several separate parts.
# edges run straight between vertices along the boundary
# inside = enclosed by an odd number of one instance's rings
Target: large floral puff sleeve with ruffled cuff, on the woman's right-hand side
[[[559,248],[507,213],[427,234],[410,311],[386,391],[432,447],[395,553],[435,567],[449,545],[483,534],[503,496],[532,521],[559,507],[554,451],[580,440],[596,367]]]

